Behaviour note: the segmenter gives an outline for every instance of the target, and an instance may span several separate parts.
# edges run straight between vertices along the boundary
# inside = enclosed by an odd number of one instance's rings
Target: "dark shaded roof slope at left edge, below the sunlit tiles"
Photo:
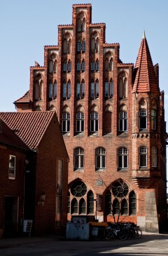
[[[5,122],[1,121],[0,144],[10,144],[13,147],[20,147],[20,149],[29,149],[27,145],[20,140],[20,137],[11,130]]]

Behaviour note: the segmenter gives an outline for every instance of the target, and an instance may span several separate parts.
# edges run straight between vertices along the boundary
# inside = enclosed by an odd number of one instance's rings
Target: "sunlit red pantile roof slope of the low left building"
[[[38,147],[54,115],[53,111],[0,112],[0,118],[30,149]]]

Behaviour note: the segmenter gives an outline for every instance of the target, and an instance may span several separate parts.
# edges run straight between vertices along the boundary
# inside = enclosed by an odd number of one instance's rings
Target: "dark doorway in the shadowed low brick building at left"
[[[4,234],[11,236],[18,231],[18,202],[16,196],[5,196]]]

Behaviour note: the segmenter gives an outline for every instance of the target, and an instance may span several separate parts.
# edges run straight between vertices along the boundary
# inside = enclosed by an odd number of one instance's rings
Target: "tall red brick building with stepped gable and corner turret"
[[[74,4],[44,66],[30,67],[18,112],[55,110],[69,154],[68,219],[134,221],[158,231],[166,216],[166,128],[159,67],[145,34],[136,64],[106,43],[91,4]],[[113,213],[113,214],[112,214]]]

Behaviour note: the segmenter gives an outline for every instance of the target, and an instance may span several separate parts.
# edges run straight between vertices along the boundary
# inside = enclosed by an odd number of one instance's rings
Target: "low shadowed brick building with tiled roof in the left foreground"
[[[36,234],[66,224],[68,154],[55,112],[0,113],[0,229]]]

